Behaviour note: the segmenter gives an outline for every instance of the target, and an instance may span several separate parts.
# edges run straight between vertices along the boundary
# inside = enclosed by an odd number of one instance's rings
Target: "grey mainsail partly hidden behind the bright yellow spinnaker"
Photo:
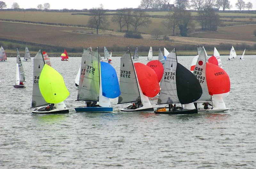
[[[32,108],[47,104],[47,102],[44,100],[39,90],[39,85],[38,85],[39,77],[45,64],[41,50],[37,52],[33,62],[34,62],[34,69],[33,69],[33,92],[32,92],[32,105],[31,105]]]

